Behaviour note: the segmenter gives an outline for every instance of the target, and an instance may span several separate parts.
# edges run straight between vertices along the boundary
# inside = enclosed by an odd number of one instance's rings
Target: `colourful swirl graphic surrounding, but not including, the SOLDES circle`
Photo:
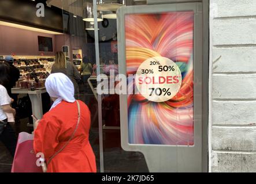
[[[182,75],[179,91],[168,101],[128,95],[130,144],[194,145],[193,29],[193,11],[125,16],[127,75],[155,56],[175,62]],[[128,81],[134,89],[135,82]]]

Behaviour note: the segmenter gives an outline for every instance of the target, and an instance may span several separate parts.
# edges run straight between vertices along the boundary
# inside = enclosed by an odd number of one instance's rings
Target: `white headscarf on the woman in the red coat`
[[[46,91],[49,93],[50,97],[57,98],[57,100],[54,101],[53,105],[51,106],[51,109],[60,104],[62,101],[76,101],[74,97],[74,85],[71,79],[69,79],[65,74],[55,73],[49,75],[46,79],[45,86]]]

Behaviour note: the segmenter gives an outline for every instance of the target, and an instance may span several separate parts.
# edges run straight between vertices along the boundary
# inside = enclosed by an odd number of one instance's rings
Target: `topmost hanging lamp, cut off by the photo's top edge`
[[[98,0],[97,10],[99,11],[117,11],[120,7],[125,6],[125,0]]]

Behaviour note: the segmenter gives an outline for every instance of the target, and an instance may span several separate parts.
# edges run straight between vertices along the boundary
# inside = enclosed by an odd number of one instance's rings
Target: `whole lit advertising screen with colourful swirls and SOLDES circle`
[[[194,145],[193,31],[194,11],[125,14],[129,144]]]

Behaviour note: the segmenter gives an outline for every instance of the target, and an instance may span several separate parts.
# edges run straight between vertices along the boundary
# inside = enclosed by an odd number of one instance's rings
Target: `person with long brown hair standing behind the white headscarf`
[[[80,81],[80,74],[76,66],[66,60],[65,54],[62,51],[56,53],[55,63],[51,68],[51,74],[58,72],[67,75],[69,79],[71,79],[73,85],[75,86],[75,98],[78,99],[79,86],[77,82]]]

